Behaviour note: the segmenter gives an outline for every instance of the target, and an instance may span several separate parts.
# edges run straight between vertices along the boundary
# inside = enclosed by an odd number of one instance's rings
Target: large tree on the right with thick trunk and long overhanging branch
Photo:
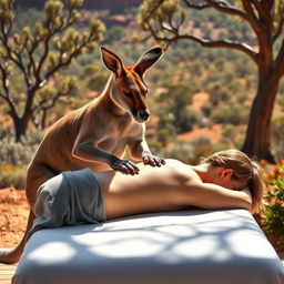
[[[215,9],[247,23],[256,47],[244,40],[211,40],[191,34],[185,9]],[[239,21],[237,21],[239,20]],[[242,150],[248,155],[275,162],[271,152],[271,118],[277,88],[284,74],[284,0],[144,0],[140,8],[143,30],[168,45],[191,40],[205,48],[227,48],[246,54],[257,68],[257,91],[250,112]]]

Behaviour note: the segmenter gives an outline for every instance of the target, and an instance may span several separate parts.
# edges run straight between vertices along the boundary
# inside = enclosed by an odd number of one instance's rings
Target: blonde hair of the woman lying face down
[[[263,175],[258,164],[243,152],[231,149],[216,152],[202,160],[213,166],[224,166],[234,171],[233,179],[247,182],[252,194],[252,213],[262,209],[262,195],[265,189]]]

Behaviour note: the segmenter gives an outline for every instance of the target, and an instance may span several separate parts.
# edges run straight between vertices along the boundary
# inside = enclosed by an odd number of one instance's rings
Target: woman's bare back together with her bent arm
[[[250,210],[251,196],[248,189],[247,192],[241,191],[245,186],[242,182],[232,180],[230,184],[239,190],[231,190],[230,186],[207,183],[210,179],[201,178],[196,166],[178,160],[165,161],[165,165],[161,168],[140,163],[140,173],[134,176],[114,171],[95,173],[103,192],[106,219],[144,212],[175,211],[191,205],[203,209]],[[212,171],[213,176],[219,176],[217,172],[222,169],[211,169],[211,174]]]

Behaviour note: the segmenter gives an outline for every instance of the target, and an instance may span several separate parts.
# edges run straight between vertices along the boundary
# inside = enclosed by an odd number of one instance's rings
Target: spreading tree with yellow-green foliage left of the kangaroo
[[[78,8],[83,1],[48,0],[44,19],[16,33],[13,2],[0,0],[0,99],[9,109],[16,141],[20,141],[30,122],[44,126],[47,111],[74,90],[73,78],[61,77],[59,84],[54,80],[74,58],[93,51],[104,26],[91,19],[88,31],[75,30],[72,26],[80,18]],[[22,94],[11,83],[16,77],[22,80]]]

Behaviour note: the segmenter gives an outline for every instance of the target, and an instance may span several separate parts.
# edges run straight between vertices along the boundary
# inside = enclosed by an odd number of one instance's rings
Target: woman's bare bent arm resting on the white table
[[[247,187],[233,191],[213,183],[191,182],[184,190],[186,205],[202,209],[240,207],[251,211],[252,195]]]

